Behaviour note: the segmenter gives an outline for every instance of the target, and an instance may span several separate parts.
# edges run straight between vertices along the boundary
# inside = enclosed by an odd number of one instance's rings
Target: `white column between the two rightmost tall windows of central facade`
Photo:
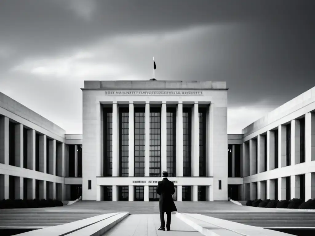
[[[192,108],[192,176],[199,176],[199,111],[198,102]]]

